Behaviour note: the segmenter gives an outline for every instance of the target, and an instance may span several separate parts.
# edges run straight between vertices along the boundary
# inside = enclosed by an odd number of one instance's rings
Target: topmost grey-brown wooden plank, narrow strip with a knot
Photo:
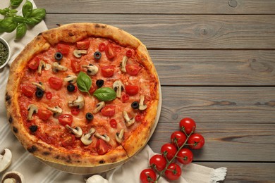
[[[184,13],[184,14],[274,14],[273,0],[181,0],[181,1],[42,1],[48,13]],[[63,8],[66,4],[66,8]]]

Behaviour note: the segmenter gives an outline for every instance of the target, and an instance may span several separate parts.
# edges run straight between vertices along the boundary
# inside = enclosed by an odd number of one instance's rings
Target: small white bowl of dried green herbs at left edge
[[[11,48],[5,39],[0,37],[0,69],[4,68],[5,65],[11,58]]]

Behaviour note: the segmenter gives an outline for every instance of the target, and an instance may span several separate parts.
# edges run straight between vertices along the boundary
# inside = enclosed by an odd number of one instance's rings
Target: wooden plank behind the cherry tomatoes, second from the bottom
[[[196,132],[205,139],[202,149],[193,150],[195,161],[275,162],[275,124],[261,124],[263,122],[259,118],[258,124],[219,123],[213,119],[209,119],[213,123],[201,123],[202,118],[200,114],[194,118],[197,121]],[[169,143],[171,134],[179,130],[179,119],[170,122],[163,119],[159,120],[149,141],[149,146],[156,153],[160,153],[161,146]]]

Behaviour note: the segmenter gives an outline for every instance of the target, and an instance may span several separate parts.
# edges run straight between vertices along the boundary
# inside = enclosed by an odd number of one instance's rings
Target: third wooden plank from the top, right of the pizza
[[[163,85],[275,85],[275,51],[150,50]]]

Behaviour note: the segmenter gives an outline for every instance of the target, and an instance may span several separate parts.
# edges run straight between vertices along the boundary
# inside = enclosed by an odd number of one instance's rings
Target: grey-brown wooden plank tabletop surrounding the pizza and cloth
[[[147,45],[163,103],[149,141],[155,152],[189,116],[206,139],[195,163],[227,167],[226,183],[275,181],[274,0],[35,3],[49,29],[106,23]]]

